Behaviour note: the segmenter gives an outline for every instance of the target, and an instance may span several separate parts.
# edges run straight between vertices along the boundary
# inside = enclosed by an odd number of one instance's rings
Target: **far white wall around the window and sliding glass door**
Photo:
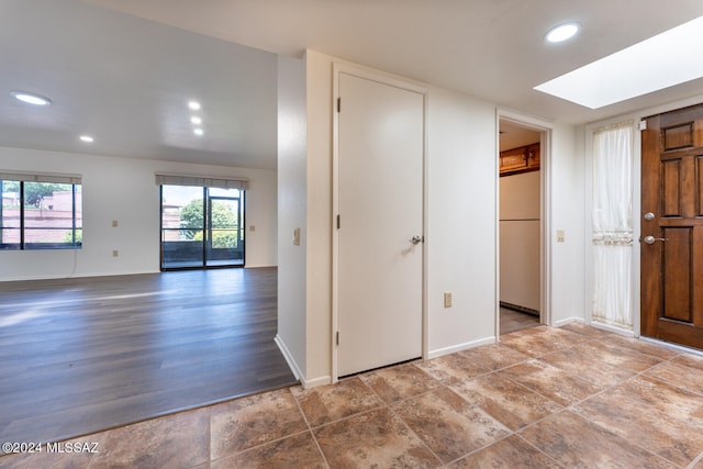
[[[0,281],[158,271],[158,171],[249,178],[246,265],[277,265],[276,171],[2,147],[0,168],[81,175],[83,200],[81,249],[0,252]],[[250,225],[256,231],[248,231]],[[119,257],[112,257],[113,249]]]

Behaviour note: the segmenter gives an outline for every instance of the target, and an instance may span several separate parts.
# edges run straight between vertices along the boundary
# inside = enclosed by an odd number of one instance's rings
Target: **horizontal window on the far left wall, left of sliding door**
[[[81,247],[79,177],[0,174],[0,249]]]

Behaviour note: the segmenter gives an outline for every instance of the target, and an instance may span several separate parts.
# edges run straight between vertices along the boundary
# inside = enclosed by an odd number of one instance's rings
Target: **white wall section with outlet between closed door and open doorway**
[[[488,342],[495,332],[495,107],[440,88],[428,94],[427,350]],[[443,293],[454,293],[445,309]]]

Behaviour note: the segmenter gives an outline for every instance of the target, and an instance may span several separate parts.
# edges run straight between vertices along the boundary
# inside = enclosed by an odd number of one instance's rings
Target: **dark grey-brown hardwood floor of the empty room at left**
[[[293,384],[276,331],[276,268],[0,282],[0,442]]]

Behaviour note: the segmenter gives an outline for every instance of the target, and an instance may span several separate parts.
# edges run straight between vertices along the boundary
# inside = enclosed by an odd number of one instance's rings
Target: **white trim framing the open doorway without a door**
[[[539,170],[539,323],[554,326],[551,317],[551,132],[554,124],[496,108],[495,112],[495,339],[500,342],[500,122],[507,121],[540,133],[540,170]]]

